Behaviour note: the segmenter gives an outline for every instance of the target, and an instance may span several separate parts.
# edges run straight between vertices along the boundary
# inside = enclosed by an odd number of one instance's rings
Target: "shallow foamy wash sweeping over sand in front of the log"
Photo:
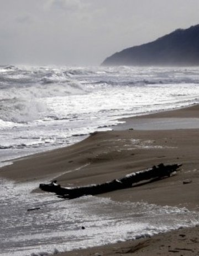
[[[198,213],[186,208],[144,202],[117,203],[92,196],[60,202],[51,194],[30,193],[38,184],[39,181],[13,184],[1,180],[2,256],[10,252],[13,256],[53,254],[57,250],[138,239],[198,224]],[[36,207],[40,209],[27,212]]]

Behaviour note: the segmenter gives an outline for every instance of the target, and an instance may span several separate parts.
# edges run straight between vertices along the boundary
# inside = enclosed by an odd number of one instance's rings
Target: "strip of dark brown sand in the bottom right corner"
[[[127,240],[87,249],[59,253],[60,256],[191,256],[198,255],[199,227],[179,228],[146,238]],[[186,242],[185,242],[186,241]],[[195,246],[193,245],[195,244]],[[193,254],[195,253],[195,254]]]

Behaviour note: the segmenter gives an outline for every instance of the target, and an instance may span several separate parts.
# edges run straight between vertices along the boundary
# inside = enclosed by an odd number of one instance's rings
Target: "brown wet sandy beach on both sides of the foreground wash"
[[[70,147],[15,160],[2,167],[0,175],[15,182],[57,179],[64,187],[74,187],[107,182],[160,163],[179,163],[180,171],[170,178],[98,196],[199,210],[198,105],[128,118],[113,128]],[[198,233],[198,227],[179,229],[61,255],[199,255]]]

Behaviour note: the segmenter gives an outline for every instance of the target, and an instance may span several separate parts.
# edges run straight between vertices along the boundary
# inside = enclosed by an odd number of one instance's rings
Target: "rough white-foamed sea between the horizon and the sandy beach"
[[[0,159],[74,143],[121,117],[198,103],[197,68],[0,67]],[[9,159],[7,159],[9,160]]]

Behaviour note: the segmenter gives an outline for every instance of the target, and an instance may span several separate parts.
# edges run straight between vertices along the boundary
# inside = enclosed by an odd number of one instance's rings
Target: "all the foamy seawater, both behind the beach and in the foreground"
[[[123,117],[191,106],[198,89],[197,67],[0,66],[0,166],[111,130]],[[59,203],[35,198],[38,183],[0,184],[3,256],[56,254],[199,223],[185,208],[97,197]],[[38,205],[39,214],[27,212]]]

